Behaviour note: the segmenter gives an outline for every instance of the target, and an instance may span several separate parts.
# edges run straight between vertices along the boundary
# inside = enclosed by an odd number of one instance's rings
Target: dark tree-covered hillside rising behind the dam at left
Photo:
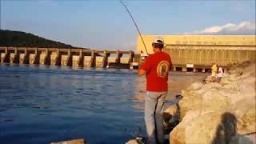
[[[22,31],[0,30],[0,46],[76,48]]]

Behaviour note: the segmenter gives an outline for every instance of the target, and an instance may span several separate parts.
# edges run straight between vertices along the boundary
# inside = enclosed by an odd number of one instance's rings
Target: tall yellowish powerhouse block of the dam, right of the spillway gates
[[[255,35],[142,35],[150,54],[155,37],[164,38],[163,50],[170,54],[174,70],[206,72],[213,62],[222,67],[256,62]],[[137,51],[146,53],[141,38],[138,38]]]

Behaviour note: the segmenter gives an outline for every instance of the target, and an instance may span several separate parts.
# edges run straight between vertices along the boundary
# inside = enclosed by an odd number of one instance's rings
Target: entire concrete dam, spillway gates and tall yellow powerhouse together
[[[173,70],[206,72],[212,63],[227,67],[244,61],[256,62],[255,35],[142,35],[149,54],[152,39],[165,40]],[[138,37],[137,51],[62,48],[0,47],[0,62],[51,66],[113,67],[137,69],[146,50]]]

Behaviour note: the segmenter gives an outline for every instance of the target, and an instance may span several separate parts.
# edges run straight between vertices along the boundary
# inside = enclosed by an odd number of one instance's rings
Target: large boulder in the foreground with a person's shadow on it
[[[228,143],[236,134],[234,114],[214,111],[201,114],[194,111],[186,115],[186,121],[180,122],[170,133],[170,143]],[[207,123],[206,123],[207,122]]]

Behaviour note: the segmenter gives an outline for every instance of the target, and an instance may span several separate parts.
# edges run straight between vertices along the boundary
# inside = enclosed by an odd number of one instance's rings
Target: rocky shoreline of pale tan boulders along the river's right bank
[[[233,66],[220,83],[194,82],[182,97],[165,110],[179,121],[171,144],[256,143],[255,63]]]

